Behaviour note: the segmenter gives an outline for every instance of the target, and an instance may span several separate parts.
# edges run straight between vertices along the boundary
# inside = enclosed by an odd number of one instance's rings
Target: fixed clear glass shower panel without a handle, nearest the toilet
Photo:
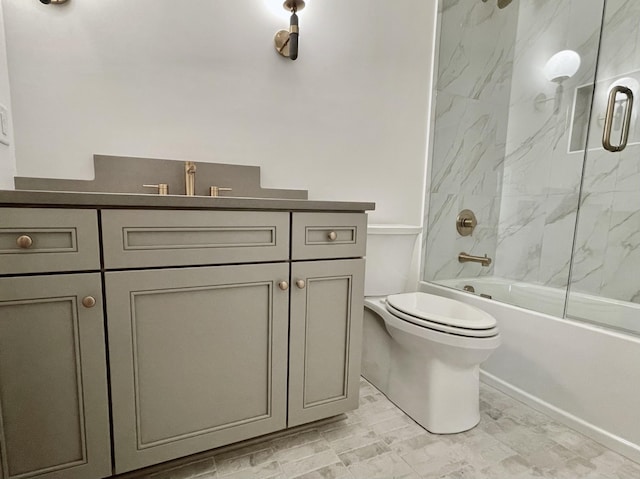
[[[439,5],[423,279],[562,317],[604,0]]]

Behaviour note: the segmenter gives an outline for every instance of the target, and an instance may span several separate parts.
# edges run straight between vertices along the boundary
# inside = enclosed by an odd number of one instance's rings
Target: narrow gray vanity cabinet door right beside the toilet
[[[364,259],[291,266],[288,426],[358,407]]]

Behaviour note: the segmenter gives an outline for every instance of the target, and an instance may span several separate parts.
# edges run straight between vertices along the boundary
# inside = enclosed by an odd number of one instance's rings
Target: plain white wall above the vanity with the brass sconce
[[[19,176],[90,179],[94,153],[259,165],[420,224],[435,0],[310,0],[295,62],[268,0],[2,1]]]

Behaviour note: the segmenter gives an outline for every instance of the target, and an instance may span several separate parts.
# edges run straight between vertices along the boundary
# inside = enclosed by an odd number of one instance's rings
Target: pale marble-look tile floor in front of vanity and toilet
[[[426,432],[364,379],[338,421],[200,455],[144,479],[639,479],[640,465],[499,391],[471,431]]]

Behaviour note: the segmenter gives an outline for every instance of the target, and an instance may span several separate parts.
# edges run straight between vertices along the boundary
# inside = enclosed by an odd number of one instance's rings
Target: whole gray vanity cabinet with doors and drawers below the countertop
[[[365,243],[362,213],[0,208],[0,479],[355,409]]]

